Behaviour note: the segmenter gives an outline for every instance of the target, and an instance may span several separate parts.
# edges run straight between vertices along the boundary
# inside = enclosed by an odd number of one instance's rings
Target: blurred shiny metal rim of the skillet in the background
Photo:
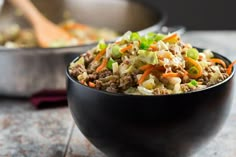
[[[161,29],[161,27],[166,23],[167,21],[167,13],[166,11],[164,11],[163,9],[161,9],[160,7],[157,6],[151,6],[151,5],[145,5],[145,3],[142,2],[137,2],[137,1],[133,1],[133,0],[128,0],[130,2],[133,3],[137,3],[142,5],[142,7],[152,10],[152,14],[154,14],[155,16],[159,17],[157,22],[154,22],[153,24],[149,25],[146,28],[143,28],[141,30],[138,30],[138,33],[144,34],[145,32],[157,32]],[[129,30],[126,30],[126,32]],[[107,43],[110,42],[114,42],[117,39],[119,39],[121,36],[118,36],[114,39],[111,40],[107,40]],[[68,51],[78,51],[78,49],[86,49],[88,47],[94,46],[98,43],[98,41],[94,41],[88,44],[82,44],[82,45],[75,45],[75,46],[66,46],[66,47],[48,47],[48,48],[41,48],[41,47],[31,47],[31,48],[5,48],[3,46],[0,46],[0,53],[2,52],[7,52],[7,53],[18,53],[18,51],[22,51],[22,52],[28,52],[28,51],[34,51],[34,53],[57,53],[57,52],[68,52]]]

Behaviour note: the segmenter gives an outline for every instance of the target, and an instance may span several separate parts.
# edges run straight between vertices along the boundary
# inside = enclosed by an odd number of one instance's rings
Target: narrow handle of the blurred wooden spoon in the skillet
[[[42,16],[38,9],[29,0],[8,0],[16,8],[19,8],[25,17],[31,22],[33,26],[37,26],[41,21],[47,21]]]

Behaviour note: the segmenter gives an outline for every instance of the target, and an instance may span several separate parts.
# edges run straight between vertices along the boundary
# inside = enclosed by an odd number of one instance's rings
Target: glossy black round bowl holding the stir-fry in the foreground
[[[187,157],[225,122],[234,73],[201,91],[133,96],[89,88],[67,71],[68,102],[81,132],[110,157]]]

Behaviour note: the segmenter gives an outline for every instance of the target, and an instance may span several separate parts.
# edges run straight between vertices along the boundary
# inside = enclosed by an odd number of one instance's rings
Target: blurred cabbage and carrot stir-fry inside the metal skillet
[[[111,40],[118,36],[108,28],[93,28],[87,25],[78,24],[72,20],[59,25],[71,35],[70,41],[53,41],[49,47],[66,47],[90,44],[100,39]],[[19,25],[12,25],[6,30],[0,31],[0,46],[6,48],[30,48],[40,47],[31,29],[22,29]]]

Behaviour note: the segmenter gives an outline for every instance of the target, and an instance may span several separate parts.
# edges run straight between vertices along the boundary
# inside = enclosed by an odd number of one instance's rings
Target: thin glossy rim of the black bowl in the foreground
[[[198,48],[198,47],[194,47],[194,48],[197,48],[198,50],[200,51],[203,51],[204,49],[202,48]],[[212,51],[212,53],[214,55],[216,55],[217,58],[221,58],[225,61],[227,61],[229,64],[232,63],[232,61],[230,59],[228,59],[227,57],[223,56],[222,54],[219,54],[217,52],[214,52]],[[80,55],[81,56],[81,55]],[[74,62],[76,60],[78,60],[80,58],[80,56],[76,57],[75,59],[73,59],[71,62]],[[70,62],[70,63],[71,63]],[[231,74],[229,75],[228,78],[226,78],[225,80],[217,83],[217,84],[214,84],[212,86],[209,86],[207,88],[203,88],[203,89],[200,89],[200,90],[194,90],[194,91],[190,91],[190,92],[186,92],[186,93],[175,93],[175,94],[167,94],[167,95],[132,95],[132,94],[124,94],[124,93],[111,93],[111,92],[107,92],[107,91],[103,91],[103,90],[98,90],[96,88],[91,88],[91,87],[88,87],[86,85],[83,85],[81,84],[79,81],[77,81],[75,78],[73,78],[70,74],[69,74],[69,66],[70,66],[70,63],[66,66],[66,77],[67,77],[67,81],[71,81],[73,82],[74,84],[76,85],[79,85],[79,86],[82,86],[84,88],[87,88],[88,90],[92,90],[94,92],[98,92],[98,93],[101,93],[101,94],[105,94],[105,95],[110,95],[110,96],[130,96],[130,97],[167,97],[167,96],[178,96],[178,95],[189,95],[189,94],[193,94],[193,93],[200,93],[200,92],[204,92],[206,90],[209,90],[209,89],[213,89],[213,88],[216,88],[222,84],[225,84],[226,82],[228,82],[229,80],[233,79],[234,77],[234,74],[235,74],[235,68],[233,66],[233,71],[231,72]],[[68,85],[68,83],[67,83]],[[67,86],[67,90],[68,90],[68,86]]]

